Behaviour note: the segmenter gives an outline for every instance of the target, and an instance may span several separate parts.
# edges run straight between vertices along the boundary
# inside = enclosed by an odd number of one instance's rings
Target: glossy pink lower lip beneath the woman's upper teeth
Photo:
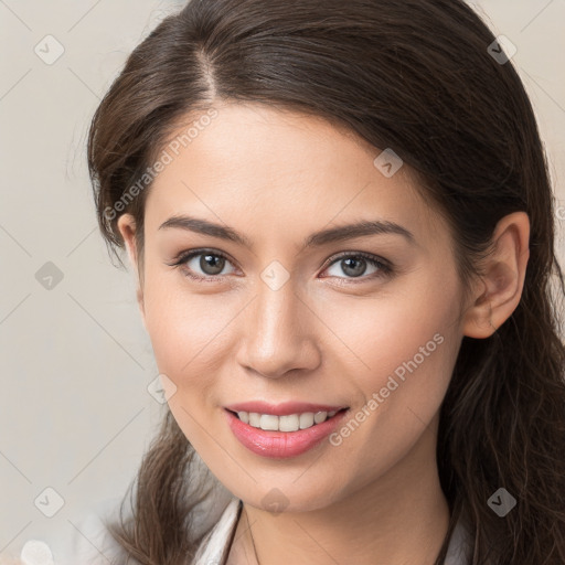
[[[271,459],[284,459],[305,454],[329,436],[349,409],[341,411],[321,424],[297,431],[266,431],[242,422],[235,414],[224,409],[234,436],[249,451]]]

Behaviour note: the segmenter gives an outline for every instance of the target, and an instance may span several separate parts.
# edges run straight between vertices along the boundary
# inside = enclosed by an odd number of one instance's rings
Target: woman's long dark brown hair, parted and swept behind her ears
[[[449,222],[463,282],[497,222],[525,211],[521,301],[491,338],[463,338],[441,405],[437,461],[451,519],[436,564],[465,510],[473,565],[563,565],[565,286],[554,200],[531,103],[511,61],[492,55],[494,41],[462,0],[192,0],[129,56],[93,118],[88,166],[114,252],[124,248],[116,203],[179,124],[216,99],[306,111],[392,148]],[[149,190],[119,206],[136,218],[140,265]],[[139,469],[132,519],[109,525],[142,564],[193,556],[193,458],[168,412]],[[518,500],[503,519],[487,504],[500,487]]]

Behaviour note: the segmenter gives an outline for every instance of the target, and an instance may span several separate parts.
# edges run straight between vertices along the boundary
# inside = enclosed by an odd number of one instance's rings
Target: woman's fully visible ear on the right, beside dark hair
[[[489,338],[515,310],[524,286],[529,243],[530,218],[525,212],[509,214],[497,224],[473,302],[463,317],[465,335]]]

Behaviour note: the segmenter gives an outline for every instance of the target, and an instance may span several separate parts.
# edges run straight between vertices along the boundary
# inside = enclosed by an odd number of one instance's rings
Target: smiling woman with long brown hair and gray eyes
[[[565,562],[564,285],[509,56],[459,0],[193,0],[134,51],[88,164],[169,411],[116,563]]]

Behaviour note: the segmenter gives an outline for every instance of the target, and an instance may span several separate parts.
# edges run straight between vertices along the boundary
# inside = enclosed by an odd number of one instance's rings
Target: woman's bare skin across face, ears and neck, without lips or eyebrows
[[[381,149],[318,117],[214,107],[217,117],[148,194],[138,301],[159,371],[177,387],[170,409],[244,501],[228,564],[257,563],[253,544],[262,565],[433,564],[449,520],[435,459],[438,411],[462,337],[488,338],[520,300],[527,216],[501,220],[484,275],[466,294],[454,237],[407,166],[386,178],[373,164]],[[253,248],[159,230],[174,214],[228,225]],[[380,234],[302,249],[313,232],[375,218],[409,230],[414,243]],[[132,216],[118,227],[137,270]],[[200,256],[184,273],[168,265],[200,247],[227,255],[221,275],[203,271]],[[382,257],[393,274],[366,263],[354,277],[347,262],[327,263],[342,252]],[[260,278],[274,260],[289,275],[278,290]],[[186,278],[189,268],[212,281]],[[267,459],[227,426],[223,406],[248,399],[328,403],[355,414],[435,334],[441,344],[339,446]],[[286,504],[280,513],[263,502],[274,487]]]

